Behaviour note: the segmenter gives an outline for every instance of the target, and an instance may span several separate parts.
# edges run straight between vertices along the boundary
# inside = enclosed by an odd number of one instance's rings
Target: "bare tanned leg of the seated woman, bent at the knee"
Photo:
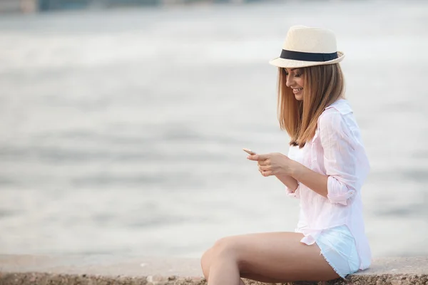
[[[210,285],[242,285],[240,277],[271,283],[339,278],[317,244],[302,244],[302,237],[294,232],[225,237],[203,254],[203,273]]]

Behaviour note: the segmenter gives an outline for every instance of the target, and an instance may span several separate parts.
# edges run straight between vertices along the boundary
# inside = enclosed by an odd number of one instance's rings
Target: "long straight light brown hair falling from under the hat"
[[[305,83],[303,100],[296,100],[285,85],[285,68],[278,68],[277,115],[280,128],[290,136],[290,145],[304,147],[317,129],[317,121],[328,105],[343,98],[345,79],[339,63],[300,68]]]

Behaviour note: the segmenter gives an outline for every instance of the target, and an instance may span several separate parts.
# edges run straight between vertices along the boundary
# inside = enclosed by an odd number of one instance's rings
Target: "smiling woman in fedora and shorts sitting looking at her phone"
[[[361,187],[369,172],[360,130],[344,98],[332,31],[292,26],[279,58],[278,118],[290,135],[288,156],[250,155],[300,199],[295,232],[225,237],[203,254],[209,285],[345,278],[370,266]]]

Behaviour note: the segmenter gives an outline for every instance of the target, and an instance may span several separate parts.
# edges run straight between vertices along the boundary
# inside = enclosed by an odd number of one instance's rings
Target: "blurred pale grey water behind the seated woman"
[[[1,16],[0,252],[199,257],[292,231],[297,200],[241,150],[287,152],[267,61],[292,24],[347,54],[374,257],[428,254],[423,1]]]

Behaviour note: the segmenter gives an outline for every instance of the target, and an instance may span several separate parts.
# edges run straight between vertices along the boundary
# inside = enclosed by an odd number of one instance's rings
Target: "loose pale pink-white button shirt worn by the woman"
[[[340,99],[325,108],[314,138],[301,149],[290,147],[288,157],[328,176],[327,198],[300,182],[295,192],[286,189],[287,195],[300,198],[296,232],[305,235],[301,242],[313,244],[322,229],[345,224],[355,238],[360,269],[367,269],[372,258],[362,218],[361,187],[370,165],[348,101]]]

